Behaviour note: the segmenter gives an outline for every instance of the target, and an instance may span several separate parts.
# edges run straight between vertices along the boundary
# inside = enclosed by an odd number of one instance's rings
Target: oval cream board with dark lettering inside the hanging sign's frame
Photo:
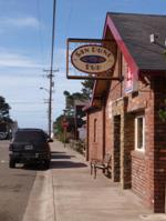
[[[111,70],[115,59],[112,51],[103,46],[84,44],[72,52],[71,62],[82,72],[100,74]]]

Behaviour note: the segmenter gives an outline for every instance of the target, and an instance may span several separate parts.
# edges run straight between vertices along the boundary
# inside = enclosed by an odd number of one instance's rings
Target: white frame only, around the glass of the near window
[[[143,145],[138,148],[138,120],[143,119]],[[136,151],[145,151],[145,115],[137,115],[135,118],[135,150]]]

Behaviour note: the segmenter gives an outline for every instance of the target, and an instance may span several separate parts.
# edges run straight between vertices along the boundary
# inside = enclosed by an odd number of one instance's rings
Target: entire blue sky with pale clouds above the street
[[[19,127],[48,127],[53,0],[0,0],[0,96]],[[64,109],[66,38],[102,38],[107,11],[165,14],[164,0],[56,0],[53,119]]]

